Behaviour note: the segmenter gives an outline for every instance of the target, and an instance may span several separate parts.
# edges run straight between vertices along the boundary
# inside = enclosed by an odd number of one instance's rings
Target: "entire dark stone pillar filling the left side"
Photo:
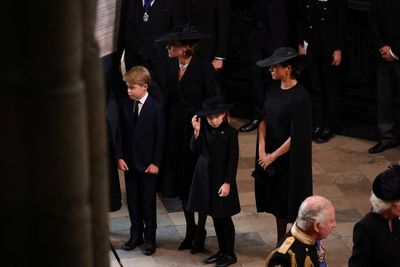
[[[85,17],[94,5],[3,6],[1,266],[108,266],[104,93]]]

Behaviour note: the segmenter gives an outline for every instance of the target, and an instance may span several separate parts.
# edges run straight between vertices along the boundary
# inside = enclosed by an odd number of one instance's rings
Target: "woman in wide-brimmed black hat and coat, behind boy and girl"
[[[166,109],[167,134],[164,163],[161,169],[161,194],[179,196],[186,219],[185,239],[179,249],[203,251],[207,235],[207,214],[199,213],[195,223],[193,211],[187,210],[187,199],[197,155],[190,151],[191,118],[204,99],[217,94],[214,69],[210,62],[196,56],[199,40],[207,38],[188,24],[177,26],[157,39],[165,42],[170,60],[167,63]]]

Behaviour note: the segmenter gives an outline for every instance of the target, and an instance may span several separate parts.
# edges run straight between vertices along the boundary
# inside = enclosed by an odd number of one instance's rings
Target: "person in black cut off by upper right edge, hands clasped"
[[[400,2],[372,0],[369,28],[374,50],[380,57],[376,70],[379,142],[369,153],[379,153],[397,145],[394,99],[400,90]],[[398,120],[397,123],[400,123]]]

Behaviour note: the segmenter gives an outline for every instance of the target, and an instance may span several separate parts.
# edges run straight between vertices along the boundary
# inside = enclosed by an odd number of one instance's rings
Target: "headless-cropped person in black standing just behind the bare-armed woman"
[[[253,0],[253,25],[249,37],[253,118],[240,127],[241,132],[257,129],[262,117],[265,98],[265,83],[271,81],[256,62],[267,58],[278,47],[288,46],[289,19],[286,1]]]

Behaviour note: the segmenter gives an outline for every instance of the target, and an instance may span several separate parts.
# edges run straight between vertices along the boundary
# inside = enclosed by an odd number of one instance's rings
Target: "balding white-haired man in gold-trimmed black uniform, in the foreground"
[[[335,228],[335,208],[322,196],[306,198],[296,222],[267,258],[266,267],[326,266],[325,239]]]

